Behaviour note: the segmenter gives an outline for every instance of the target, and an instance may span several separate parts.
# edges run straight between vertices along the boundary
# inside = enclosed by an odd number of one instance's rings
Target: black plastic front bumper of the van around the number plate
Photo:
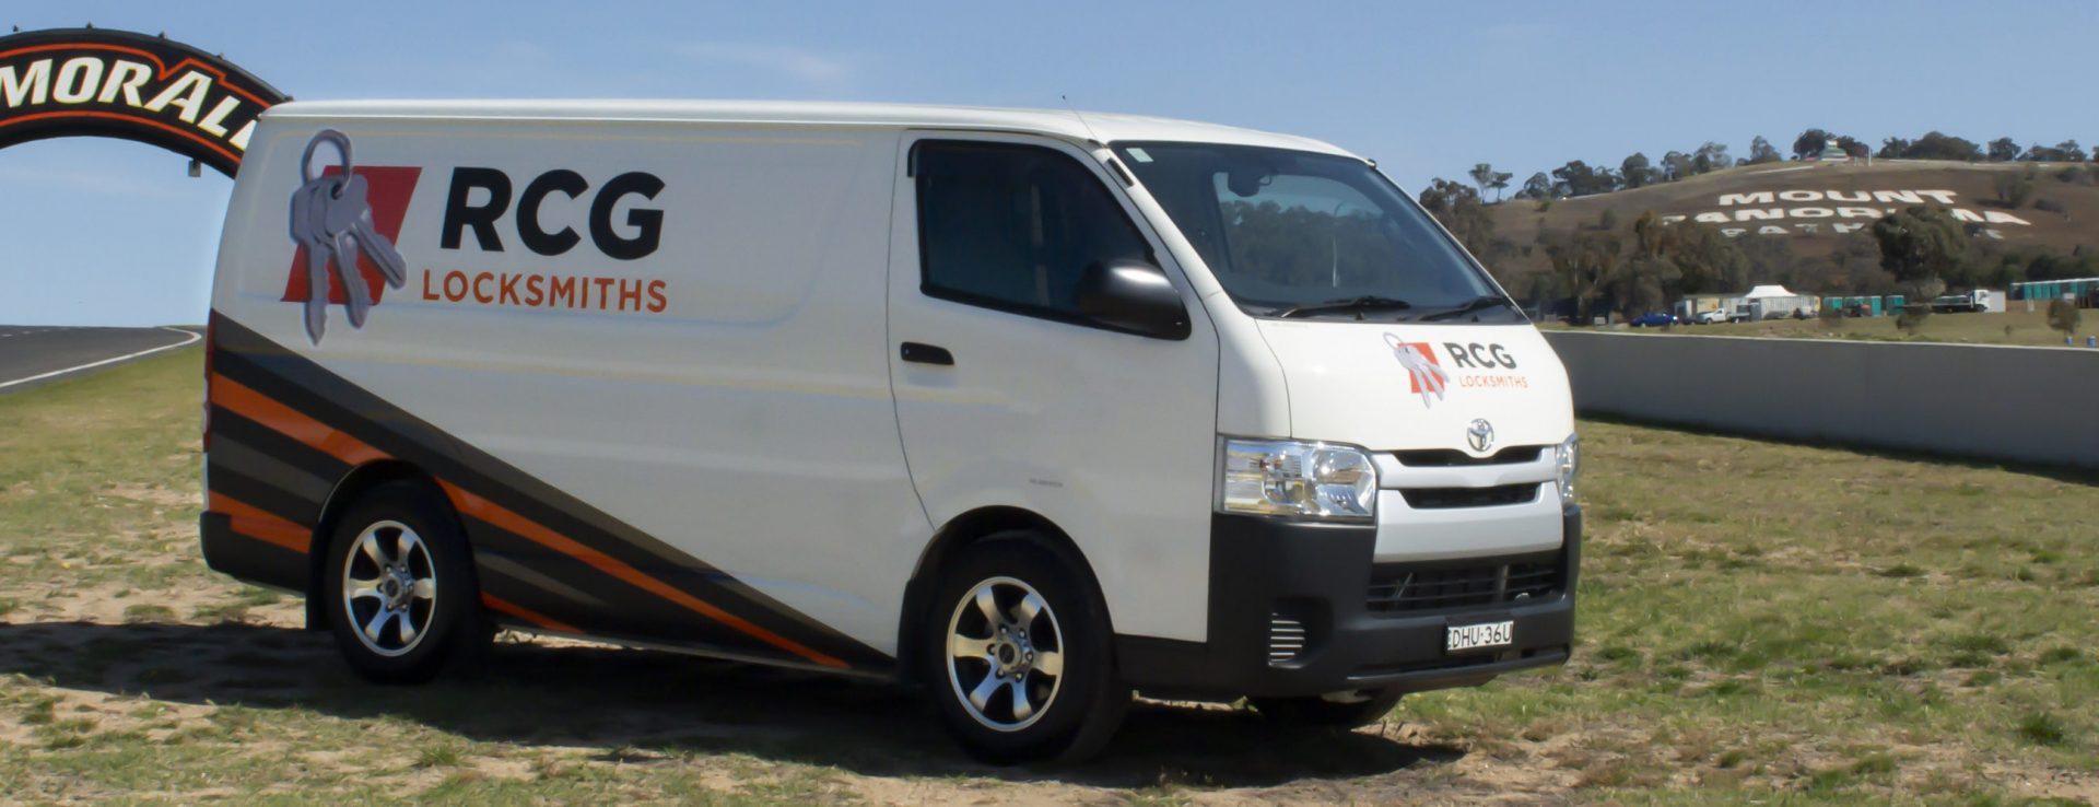
[[[1377,527],[1213,515],[1209,641],[1117,637],[1123,679],[1138,689],[1230,700],[1345,689],[1444,689],[1564,664],[1574,645],[1581,509],[1562,519],[1557,551],[1432,563],[1373,563]],[[1545,570],[1551,593],[1455,597],[1450,607],[1373,609],[1373,584],[1421,580],[1453,567]],[[1539,572],[1541,576],[1545,572]],[[1503,580],[1509,572],[1503,572]],[[1448,588],[1446,588],[1448,591]],[[1511,643],[1446,651],[1446,628],[1511,620]],[[1301,639],[1295,639],[1301,637]]]

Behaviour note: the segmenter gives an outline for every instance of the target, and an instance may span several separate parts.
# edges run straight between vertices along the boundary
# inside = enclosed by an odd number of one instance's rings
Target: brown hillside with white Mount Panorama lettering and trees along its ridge
[[[1490,206],[1494,233],[1518,244],[1515,254],[1492,263],[1507,282],[1547,269],[1541,250],[1522,250],[1543,231],[1568,233],[1593,227],[1604,210],[1616,210],[1620,225],[1646,210],[1688,216],[1721,227],[1736,240],[1782,240],[1793,258],[1826,258],[1841,248],[1872,250],[1872,221],[1910,204],[1939,204],[1967,223],[1969,233],[2007,252],[2078,246],[2099,248],[2099,185],[2093,179],[2061,181],[2070,164],[2034,164],[2032,200],[2019,208],[1998,202],[1998,179],[2017,177],[2030,164],[1969,164],[1925,160],[1874,160],[1872,164],[1778,162],[1742,166],[1648,185],[1616,193],[1557,200],[1541,206],[1509,200]],[[2084,164],[2086,172],[2099,166]],[[2063,212],[2038,208],[2059,204]],[[1858,240],[1858,244],[1851,244]],[[1744,242],[1744,248],[1753,244]],[[1776,246],[1776,244],[1765,244]],[[1528,252],[1528,254],[1524,254]]]

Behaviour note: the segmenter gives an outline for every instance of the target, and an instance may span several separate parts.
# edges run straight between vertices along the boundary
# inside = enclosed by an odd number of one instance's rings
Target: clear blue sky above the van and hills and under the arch
[[[1316,137],[1419,191],[1719,141],[2099,143],[2099,2],[101,2],[0,25],[225,53],[298,99],[1058,107]],[[4,27],[0,27],[4,29]],[[0,324],[204,322],[233,183],[155,147],[0,149]]]

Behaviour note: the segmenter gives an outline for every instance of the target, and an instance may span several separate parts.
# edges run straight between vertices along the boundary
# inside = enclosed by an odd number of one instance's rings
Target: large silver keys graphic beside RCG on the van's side
[[[340,172],[315,177],[313,153],[323,143],[340,156]],[[348,296],[344,313],[351,315],[351,328],[363,328],[372,311],[372,290],[357,269],[357,258],[372,258],[380,277],[393,288],[407,284],[407,261],[372,225],[369,187],[353,170],[348,134],[334,128],[315,132],[300,156],[298,177],[302,185],[292,191],[292,242],[306,248],[306,336],[319,345],[321,332],[327,330],[330,265]]]

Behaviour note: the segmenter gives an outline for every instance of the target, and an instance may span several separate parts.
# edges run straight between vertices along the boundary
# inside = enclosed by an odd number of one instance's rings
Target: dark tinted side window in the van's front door
[[[919,141],[919,290],[957,303],[1079,319],[1091,263],[1154,263],[1094,172],[1056,149]]]

